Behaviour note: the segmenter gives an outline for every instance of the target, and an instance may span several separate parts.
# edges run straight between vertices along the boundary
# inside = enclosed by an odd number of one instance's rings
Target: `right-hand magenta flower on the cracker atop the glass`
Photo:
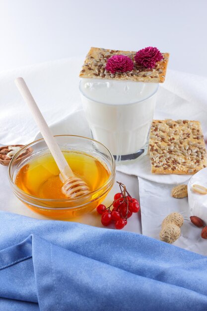
[[[137,65],[148,69],[154,68],[156,62],[160,62],[162,59],[163,56],[160,51],[157,48],[153,48],[152,46],[139,50],[135,55],[135,61]]]

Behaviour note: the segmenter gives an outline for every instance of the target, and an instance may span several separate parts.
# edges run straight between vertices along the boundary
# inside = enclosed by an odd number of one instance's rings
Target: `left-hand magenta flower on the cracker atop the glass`
[[[132,71],[133,68],[133,61],[125,55],[113,55],[106,63],[106,70],[110,71],[112,74],[126,73]]]

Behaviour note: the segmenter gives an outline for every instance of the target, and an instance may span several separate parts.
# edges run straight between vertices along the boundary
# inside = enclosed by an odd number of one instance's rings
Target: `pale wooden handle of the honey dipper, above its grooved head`
[[[64,180],[67,180],[70,176],[74,176],[71,168],[69,167],[68,162],[66,161],[64,155],[62,154],[60,147],[58,146],[54,136],[52,135],[45,119],[43,118],[43,115],[41,114],[34,98],[32,97],[32,94],[30,93],[30,90],[28,89],[25,81],[23,78],[16,78],[15,84],[21,93],[22,97],[24,98],[24,101],[29,106],[34,120],[37,123],[37,126],[39,127],[39,130],[52,154],[54,157],[56,164],[58,165],[58,168],[60,169],[61,176]]]

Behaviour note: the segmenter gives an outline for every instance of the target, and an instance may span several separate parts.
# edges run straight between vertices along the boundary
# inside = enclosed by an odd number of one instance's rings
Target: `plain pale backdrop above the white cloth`
[[[169,52],[169,68],[207,76],[207,0],[0,0],[0,71],[90,46]]]

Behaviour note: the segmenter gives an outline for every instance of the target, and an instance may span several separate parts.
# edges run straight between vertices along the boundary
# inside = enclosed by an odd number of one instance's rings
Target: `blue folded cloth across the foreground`
[[[0,311],[207,310],[207,257],[130,232],[0,212]]]

